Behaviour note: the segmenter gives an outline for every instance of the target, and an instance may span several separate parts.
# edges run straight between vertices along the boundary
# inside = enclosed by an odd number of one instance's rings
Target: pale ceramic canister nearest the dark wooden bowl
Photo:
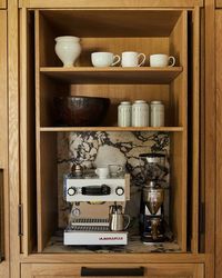
[[[130,127],[131,126],[131,110],[132,106],[130,101],[121,101],[118,107],[118,126]]]

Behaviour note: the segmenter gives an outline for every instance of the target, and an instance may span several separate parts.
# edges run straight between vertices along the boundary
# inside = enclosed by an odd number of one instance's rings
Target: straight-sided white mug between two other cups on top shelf
[[[142,60],[140,61],[140,58],[142,57]],[[121,66],[122,67],[141,67],[145,62],[145,54],[138,53],[134,51],[125,51],[122,52],[122,60]]]

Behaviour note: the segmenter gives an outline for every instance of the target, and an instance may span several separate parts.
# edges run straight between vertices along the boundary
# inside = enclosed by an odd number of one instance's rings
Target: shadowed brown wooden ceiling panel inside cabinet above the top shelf
[[[78,37],[123,37],[123,33],[125,37],[168,37],[181,11],[100,9],[42,10],[41,13],[58,32]]]

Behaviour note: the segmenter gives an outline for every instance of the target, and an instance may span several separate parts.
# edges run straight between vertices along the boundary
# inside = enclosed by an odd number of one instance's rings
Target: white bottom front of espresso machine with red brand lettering
[[[127,231],[64,231],[64,245],[70,246],[105,246],[105,245],[127,245]]]

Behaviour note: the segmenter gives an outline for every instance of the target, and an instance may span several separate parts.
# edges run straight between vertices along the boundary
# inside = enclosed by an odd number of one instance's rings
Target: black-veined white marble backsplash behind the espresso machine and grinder
[[[168,132],[60,132],[58,133],[58,206],[59,227],[67,226],[72,209],[63,200],[63,175],[73,163],[97,168],[110,163],[125,166],[131,175],[131,199],[128,214],[138,217],[140,208],[141,170],[139,155],[145,152],[170,153]],[[169,179],[169,161],[165,167]]]

